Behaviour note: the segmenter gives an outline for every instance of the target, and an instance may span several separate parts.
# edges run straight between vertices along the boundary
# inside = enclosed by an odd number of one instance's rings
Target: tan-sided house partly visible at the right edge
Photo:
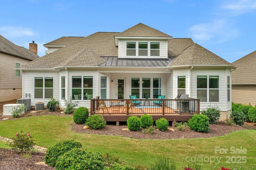
[[[233,62],[232,102],[256,105],[256,51]]]

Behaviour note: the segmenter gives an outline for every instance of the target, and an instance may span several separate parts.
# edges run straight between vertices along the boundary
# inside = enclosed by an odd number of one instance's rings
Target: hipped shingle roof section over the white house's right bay
[[[230,65],[229,62],[220,58],[218,55],[205,49],[204,47],[193,44],[182,53],[177,55],[170,66],[182,66],[182,65]]]

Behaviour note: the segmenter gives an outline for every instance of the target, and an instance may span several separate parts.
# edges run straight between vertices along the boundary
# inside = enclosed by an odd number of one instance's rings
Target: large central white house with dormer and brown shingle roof
[[[54,51],[58,42],[64,47]],[[52,47],[50,45],[53,45]],[[229,81],[235,67],[190,38],[172,38],[139,23],[121,33],[62,37],[47,43],[53,51],[20,67],[31,104],[53,96],[90,108],[90,99],[199,98],[200,109],[216,104],[226,119],[231,111]],[[60,46],[59,46],[60,47]]]

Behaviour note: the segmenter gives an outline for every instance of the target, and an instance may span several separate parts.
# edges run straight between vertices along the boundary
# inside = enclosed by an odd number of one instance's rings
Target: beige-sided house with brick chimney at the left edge
[[[14,70],[38,59],[37,44],[30,43],[30,51],[0,35],[0,102],[22,98],[22,72]]]

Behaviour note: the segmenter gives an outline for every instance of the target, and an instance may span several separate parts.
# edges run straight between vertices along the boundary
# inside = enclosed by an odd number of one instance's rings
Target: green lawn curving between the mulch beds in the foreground
[[[119,136],[80,134],[71,130],[72,123],[72,117],[52,115],[2,121],[0,129],[4,131],[0,131],[0,136],[12,138],[22,129],[24,133],[29,132],[36,139],[36,145],[47,148],[61,140],[75,139],[80,141],[84,148],[99,151],[102,154],[114,154],[120,160],[133,165],[150,165],[157,158],[166,156],[173,158],[177,162],[178,169],[182,169],[186,163],[192,163],[194,158],[198,160],[203,158],[203,167],[211,170],[214,166],[216,166],[215,169],[220,169],[221,166],[240,166],[239,163],[234,164],[234,162],[238,162],[240,156],[246,156],[246,163],[242,165],[250,168],[256,166],[255,130],[236,131],[225,136],[205,139],[140,140]],[[1,142],[0,147],[7,146]],[[225,154],[219,151],[215,153],[215,147],[228,150]],[[240,147],[246,149],[246,153],[241,153]],[[236,154],[233,154],[232,149],[236,149]],[[208,158],[212,158],[212,161],[213,158],[218,158],[220,162],[215,160],[210,164]],[[230,163],[228,163],[229,158]]]

